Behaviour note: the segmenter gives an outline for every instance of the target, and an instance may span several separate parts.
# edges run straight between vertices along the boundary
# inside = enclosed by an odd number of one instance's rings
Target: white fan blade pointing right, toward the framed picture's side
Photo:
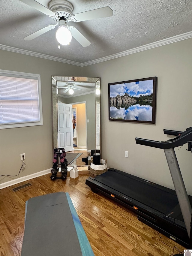
[[[95,20],[98,18],[110,17],[113,15],[113,10],[109,6],[98,8],[91,11],[86,11],[82,13],[77,13],[71,15],[70,19],[74,22],[84,21],[84,20]]]

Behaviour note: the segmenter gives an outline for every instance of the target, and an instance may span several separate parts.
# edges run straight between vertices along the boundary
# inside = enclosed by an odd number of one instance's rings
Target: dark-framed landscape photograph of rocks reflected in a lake
[[[155,124],[157,77],[109,83],[109,120]]]

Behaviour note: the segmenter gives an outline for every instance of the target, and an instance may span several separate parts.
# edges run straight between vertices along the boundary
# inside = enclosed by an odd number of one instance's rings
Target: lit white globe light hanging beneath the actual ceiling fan
[[[59,28],[56,32],[56,38],[59,44],[67,45],[70,44],[72,39],[71,32],[68,29],[68,26],[64,20],[59,21]]]

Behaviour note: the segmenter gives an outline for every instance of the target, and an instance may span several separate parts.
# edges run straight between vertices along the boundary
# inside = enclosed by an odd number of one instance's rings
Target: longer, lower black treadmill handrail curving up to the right
[[[186,131],[182,132],[181,135],[167,140],[167,141],[156,141],[156,140],[146,140],[142,138],[135,138],[137,144],[150,146],[159,149],[171,149],[184,145],[185,143],[192,140],[192,127],[187,128]]]

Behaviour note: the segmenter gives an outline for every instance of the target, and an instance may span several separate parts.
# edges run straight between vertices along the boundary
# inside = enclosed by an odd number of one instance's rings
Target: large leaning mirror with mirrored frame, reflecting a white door
[[[101,150],[101,82],[99,77],[52,76],[52,140],[53,148],[65,152]]]

